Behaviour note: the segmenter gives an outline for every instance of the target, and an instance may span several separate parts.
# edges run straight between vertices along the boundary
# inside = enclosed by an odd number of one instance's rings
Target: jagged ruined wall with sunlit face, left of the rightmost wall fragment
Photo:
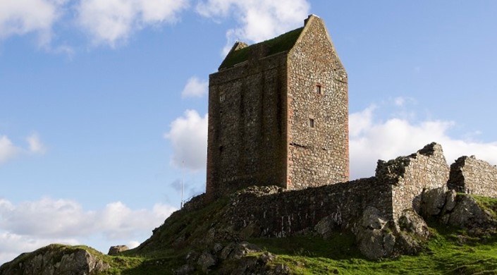
[[[441,145],[431,143],[415,154],[378,161],[376,179],[392,186],[392,218],[404,209],[419,212],[423,190],[446,186],[449,167]]]

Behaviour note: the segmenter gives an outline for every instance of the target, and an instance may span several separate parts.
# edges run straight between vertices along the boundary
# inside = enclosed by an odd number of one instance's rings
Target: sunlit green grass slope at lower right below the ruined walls
[[[272,264],[286,264],[294,274],[497,274],[497,236],[481,243],[465,231],[444,226],[432,227],[432,233],[427,250],[420,255],[381,261],[364,259],[353,245],[353,236],[345,233],[321,241],[253,241],[278,255]]]

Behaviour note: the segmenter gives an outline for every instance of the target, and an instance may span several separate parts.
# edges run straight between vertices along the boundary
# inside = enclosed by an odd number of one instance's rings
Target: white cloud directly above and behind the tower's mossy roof
[[[197,4],[197,13],[204,17],[218,19],[232,14],[241,24],[226,32],[225,54],[236,40],[259,42],[303,25],[309,9],[305,0],[207,0]]]

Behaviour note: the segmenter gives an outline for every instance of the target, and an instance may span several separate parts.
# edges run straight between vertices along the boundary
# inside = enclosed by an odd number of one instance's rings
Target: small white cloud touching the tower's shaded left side
[[[164,134],[173,145],[172,162],[178,167],[193,171],[205,169],[207,161],[207,114],[201,117],[195,110],[171,123],[171,130]]]

